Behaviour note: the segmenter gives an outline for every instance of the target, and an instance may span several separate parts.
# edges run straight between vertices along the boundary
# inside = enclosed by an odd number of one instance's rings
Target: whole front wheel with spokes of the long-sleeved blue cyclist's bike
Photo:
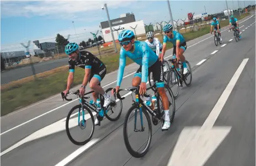
[[[135,132],[129,133],[128,128]],[[145,136],[146,133],[147,136]],[[132,136],[132,134],[136,134],[136,136]],[[152,140],[151,119],[145,109],[142,108],[142,111],[140,111],[137,105],[131,106],[125,116],[123,135],[125,146],[131,156],[135,158],[145,156]]]

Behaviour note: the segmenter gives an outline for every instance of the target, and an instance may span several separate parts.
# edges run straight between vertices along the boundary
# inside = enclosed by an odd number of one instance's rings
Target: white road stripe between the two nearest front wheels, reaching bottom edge
[[[100,139],[99,138],[93,138],[90,140],[87,144],[84,144],[82,147],[78,148],[76,151],[68,155],[65,159],[61,160],[58,164],[55,166],[64,166],[70,163],[73,159],[75,159],[77,156],[79,156],[81,153],[86,151],[89,147],[93,146],[96,142],[98,142]]]

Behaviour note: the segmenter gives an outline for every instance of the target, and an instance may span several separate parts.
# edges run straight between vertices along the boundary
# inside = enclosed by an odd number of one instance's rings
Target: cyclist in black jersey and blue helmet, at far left
[[[70,90],[71,84],[74,80],[74,67],[78,66],[84,68],[85,74],[83,78],[83,83],[79,89],[79,94],[81,96],[86,92],[86,86],[89,82],[89,87],[94,90],[93,100],[96,103],[98,98],[98,93],[102,94],[104,97],[104,107],[110,104],[110,95],[106,94],[102,87],[100,87],[100,82],[105,77],[106,67],[102,61],[100,61],[96,56],[88,51],[79,51],[79,46],[75,42],[71,42],[66,45],[65,52],[70,57],[69,70],[67,78],[67,88],[63,91],[66,95]],[[99,116],[103,115],[99,113]],[[98,119],[96,118],[95,125],[98,124]]]

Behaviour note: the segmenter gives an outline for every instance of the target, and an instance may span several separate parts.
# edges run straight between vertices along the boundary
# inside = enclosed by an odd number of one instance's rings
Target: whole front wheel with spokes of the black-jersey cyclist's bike
[[[85,114],[85,109],[86,108],[84,108],[84,112],[83,112],[82,105],[76,105],[70,110],[70,112],[67,115],[67,119],[66,119],[67,136],[70,139],[70,141],[76,145],[86,144],[87,142],[90,141],[90,139],[93,136],[94,117],[93,117],[92,112],[89,109],[86,109],[89,114]],[[77,113],[75,111],[77,111]],[[83,114],[84,114],[84,123],[83,123]],[[92,123],[90,123],[90,122],[92,122]],[[89,136],[85,140],[84,140],[84,138],[79,140],[79,138],[83,137],[81,135],[82,135],[82,133],[85,133],[84,130],[86,130],[87,128],[91,128],[91,130],[92,130],[90,132]],[[81,130],[82,130],[82,132],[81,132]],[[72,132],[72,134],[71,134],[71,132]],[[77,136],[77,138],[75,138],[75,136]]]

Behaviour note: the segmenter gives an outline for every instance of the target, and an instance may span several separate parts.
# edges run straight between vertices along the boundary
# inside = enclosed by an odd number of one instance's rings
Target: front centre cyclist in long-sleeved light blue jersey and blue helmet
[[[162,130],[168,130],[170,127],[169,117],[169,101],[164,90],[162,63],[159,61],[158,56],[144,41],[135,41],[134,32],[131,30],[123,30],[118,36],[121,45],[118,79],[116,83],[116,90],[119,90],[122,77],[124,75],[124,68],[126,65],[126,57],[131,58],[134,62],[140,65],[137,72],[132,79],[132,86],[137,87],[140,85],[139,93],[146,93],[146,82],[148,73],[153,73],[153,79],[156,82],[157,90],[163,101],[164,108],[164,124]]]

